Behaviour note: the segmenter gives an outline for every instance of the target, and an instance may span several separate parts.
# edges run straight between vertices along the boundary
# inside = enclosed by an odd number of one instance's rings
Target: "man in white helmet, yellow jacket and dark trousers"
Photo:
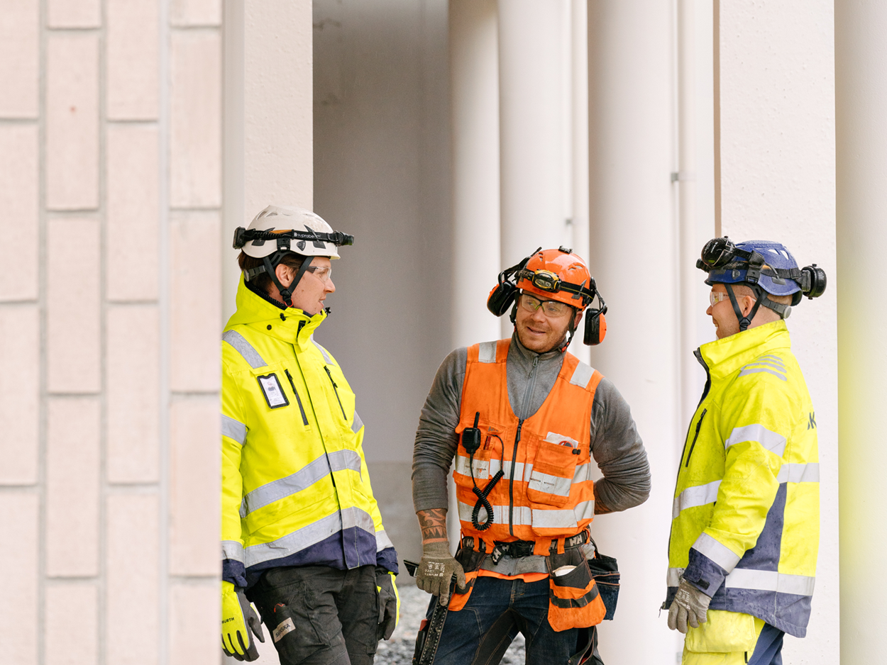
[[[237,311],[222,336],[222,647],[281,665],[369,665],[395,629],[397,554],[364,458],[364,424],[314,340],[353,237],[299,207],[239,228]]]

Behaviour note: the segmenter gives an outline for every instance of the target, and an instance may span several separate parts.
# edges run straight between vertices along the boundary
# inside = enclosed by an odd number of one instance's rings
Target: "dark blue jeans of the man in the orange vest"
[[[432,597],[428,617],[437,602]],[[538,582],[478,577],[466,606],[448,612],[435,665],[493,665],[518,632],[527,665],[565,663],[577,651],[578,629],[554,632],[548,623],[548,578]]]

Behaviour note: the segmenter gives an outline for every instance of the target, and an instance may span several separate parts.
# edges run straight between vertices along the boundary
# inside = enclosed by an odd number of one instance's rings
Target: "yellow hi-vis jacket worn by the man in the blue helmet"
[[[708,381],[680,459],[665,606],[683,575],[711,596],[710,609],[803,638],[820,465],[810,394],[790,346],[785,322],[775,321],[696,351]]]

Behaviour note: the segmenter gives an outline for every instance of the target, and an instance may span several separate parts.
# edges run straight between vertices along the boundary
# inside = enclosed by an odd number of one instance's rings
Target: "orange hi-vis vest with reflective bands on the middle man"
[[[561,372],[539,410],[519,420],[508,402],[506,358],[511,340],[484,342],[468,348],[457,434],[474,426],[480,413],[481,448],[469,468],[459,437],[456,452],[456,494],[462,533],[483,540],[486,552],[494,541],[536,541],[534,554],[546,556],[553,541],[563,552],[563,539],[575,536],[594,519],[594,483],[589,427],[600,372],[564,354]],[[478,530],[471,520],[479,489],[502,469],[505,476],[488,495],[493,509],[490,528]],[[472,470],[474,481],[472,480]],[[486,511],[480,511],[480,522]]]

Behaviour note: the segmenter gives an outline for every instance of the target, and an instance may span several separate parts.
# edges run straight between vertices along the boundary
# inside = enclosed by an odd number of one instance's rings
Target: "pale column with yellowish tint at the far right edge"
[[[887,451],[878,443],[883,439],[881,412],[887,398],[883,379],[887,310],[865,295],[879,290],[882,247],[887,241],[883,187],[887,94],[879,83],[887,72],[887,45],[879,37],[885,29],[883,3],[836,3],[837,388],[841,661],[845,663],[875,662],[880,657],[884,614],[880,599],[887,591],[883,576],[871,575],[883,567],[887,551],[881,526],[887,512],[887,484],[879,473],[887,463]],[[814,603],[821,605],[821,600]],[[828,610],[834,630],[835,613]]]

